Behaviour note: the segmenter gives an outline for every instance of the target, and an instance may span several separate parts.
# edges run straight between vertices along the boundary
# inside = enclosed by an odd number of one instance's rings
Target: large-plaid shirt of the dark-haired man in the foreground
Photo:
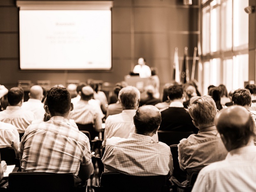
[[[80,164],[91,162],[88,137],[61,116],[29,126],[19,151],[22,171],[73,173],[77,176]]]

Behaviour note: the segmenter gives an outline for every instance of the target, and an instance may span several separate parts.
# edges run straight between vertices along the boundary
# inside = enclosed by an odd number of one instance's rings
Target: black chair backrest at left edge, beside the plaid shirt
[[[16,156],[16,152],[12,147],[5,147],[0,149],[1,160],[5,161],[7,165],[15,165],[20,167],[20,161]]]

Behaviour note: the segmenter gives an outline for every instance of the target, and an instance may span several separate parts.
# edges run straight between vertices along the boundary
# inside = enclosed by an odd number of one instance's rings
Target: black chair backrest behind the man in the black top
[[[164,131],[158,130],[158,140],[166,143],[167,145],[179,144],[180,140],[189,137],[193,132],[181,132],[181,131]]]

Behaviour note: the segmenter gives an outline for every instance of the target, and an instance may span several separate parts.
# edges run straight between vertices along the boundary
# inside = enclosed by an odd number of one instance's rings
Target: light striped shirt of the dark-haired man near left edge
[[[14,125],[19,133],[24,133],[34,120],[33,112],[21,109],[19,106],[7,106],[6,110],[0,112],[0,121]]]

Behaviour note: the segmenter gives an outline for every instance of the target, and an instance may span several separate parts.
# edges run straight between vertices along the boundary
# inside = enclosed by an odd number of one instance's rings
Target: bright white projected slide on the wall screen
[[[20,10],[20,68],[111,69],[110,10]]]

